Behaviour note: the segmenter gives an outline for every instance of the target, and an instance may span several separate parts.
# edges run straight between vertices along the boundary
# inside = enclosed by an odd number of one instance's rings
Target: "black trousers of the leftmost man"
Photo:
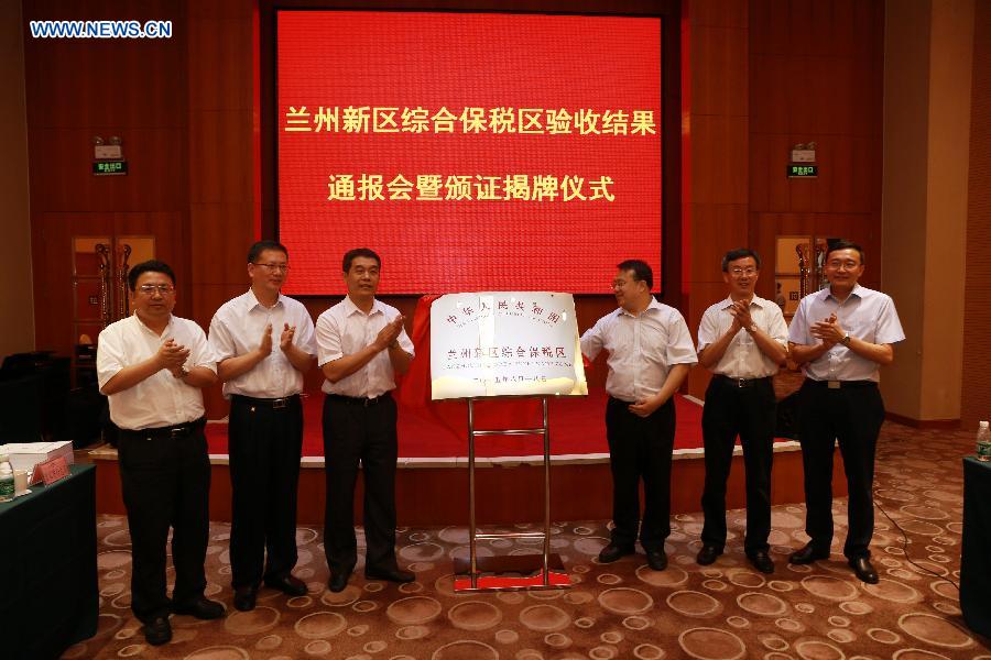
[[[148,623],[171,612],[165,595],[170,527],[173,601],[188,603],[206,588],[210,460],[202,420],[176,435],[122,429],[117,451],[131,534],[131,609]]]

